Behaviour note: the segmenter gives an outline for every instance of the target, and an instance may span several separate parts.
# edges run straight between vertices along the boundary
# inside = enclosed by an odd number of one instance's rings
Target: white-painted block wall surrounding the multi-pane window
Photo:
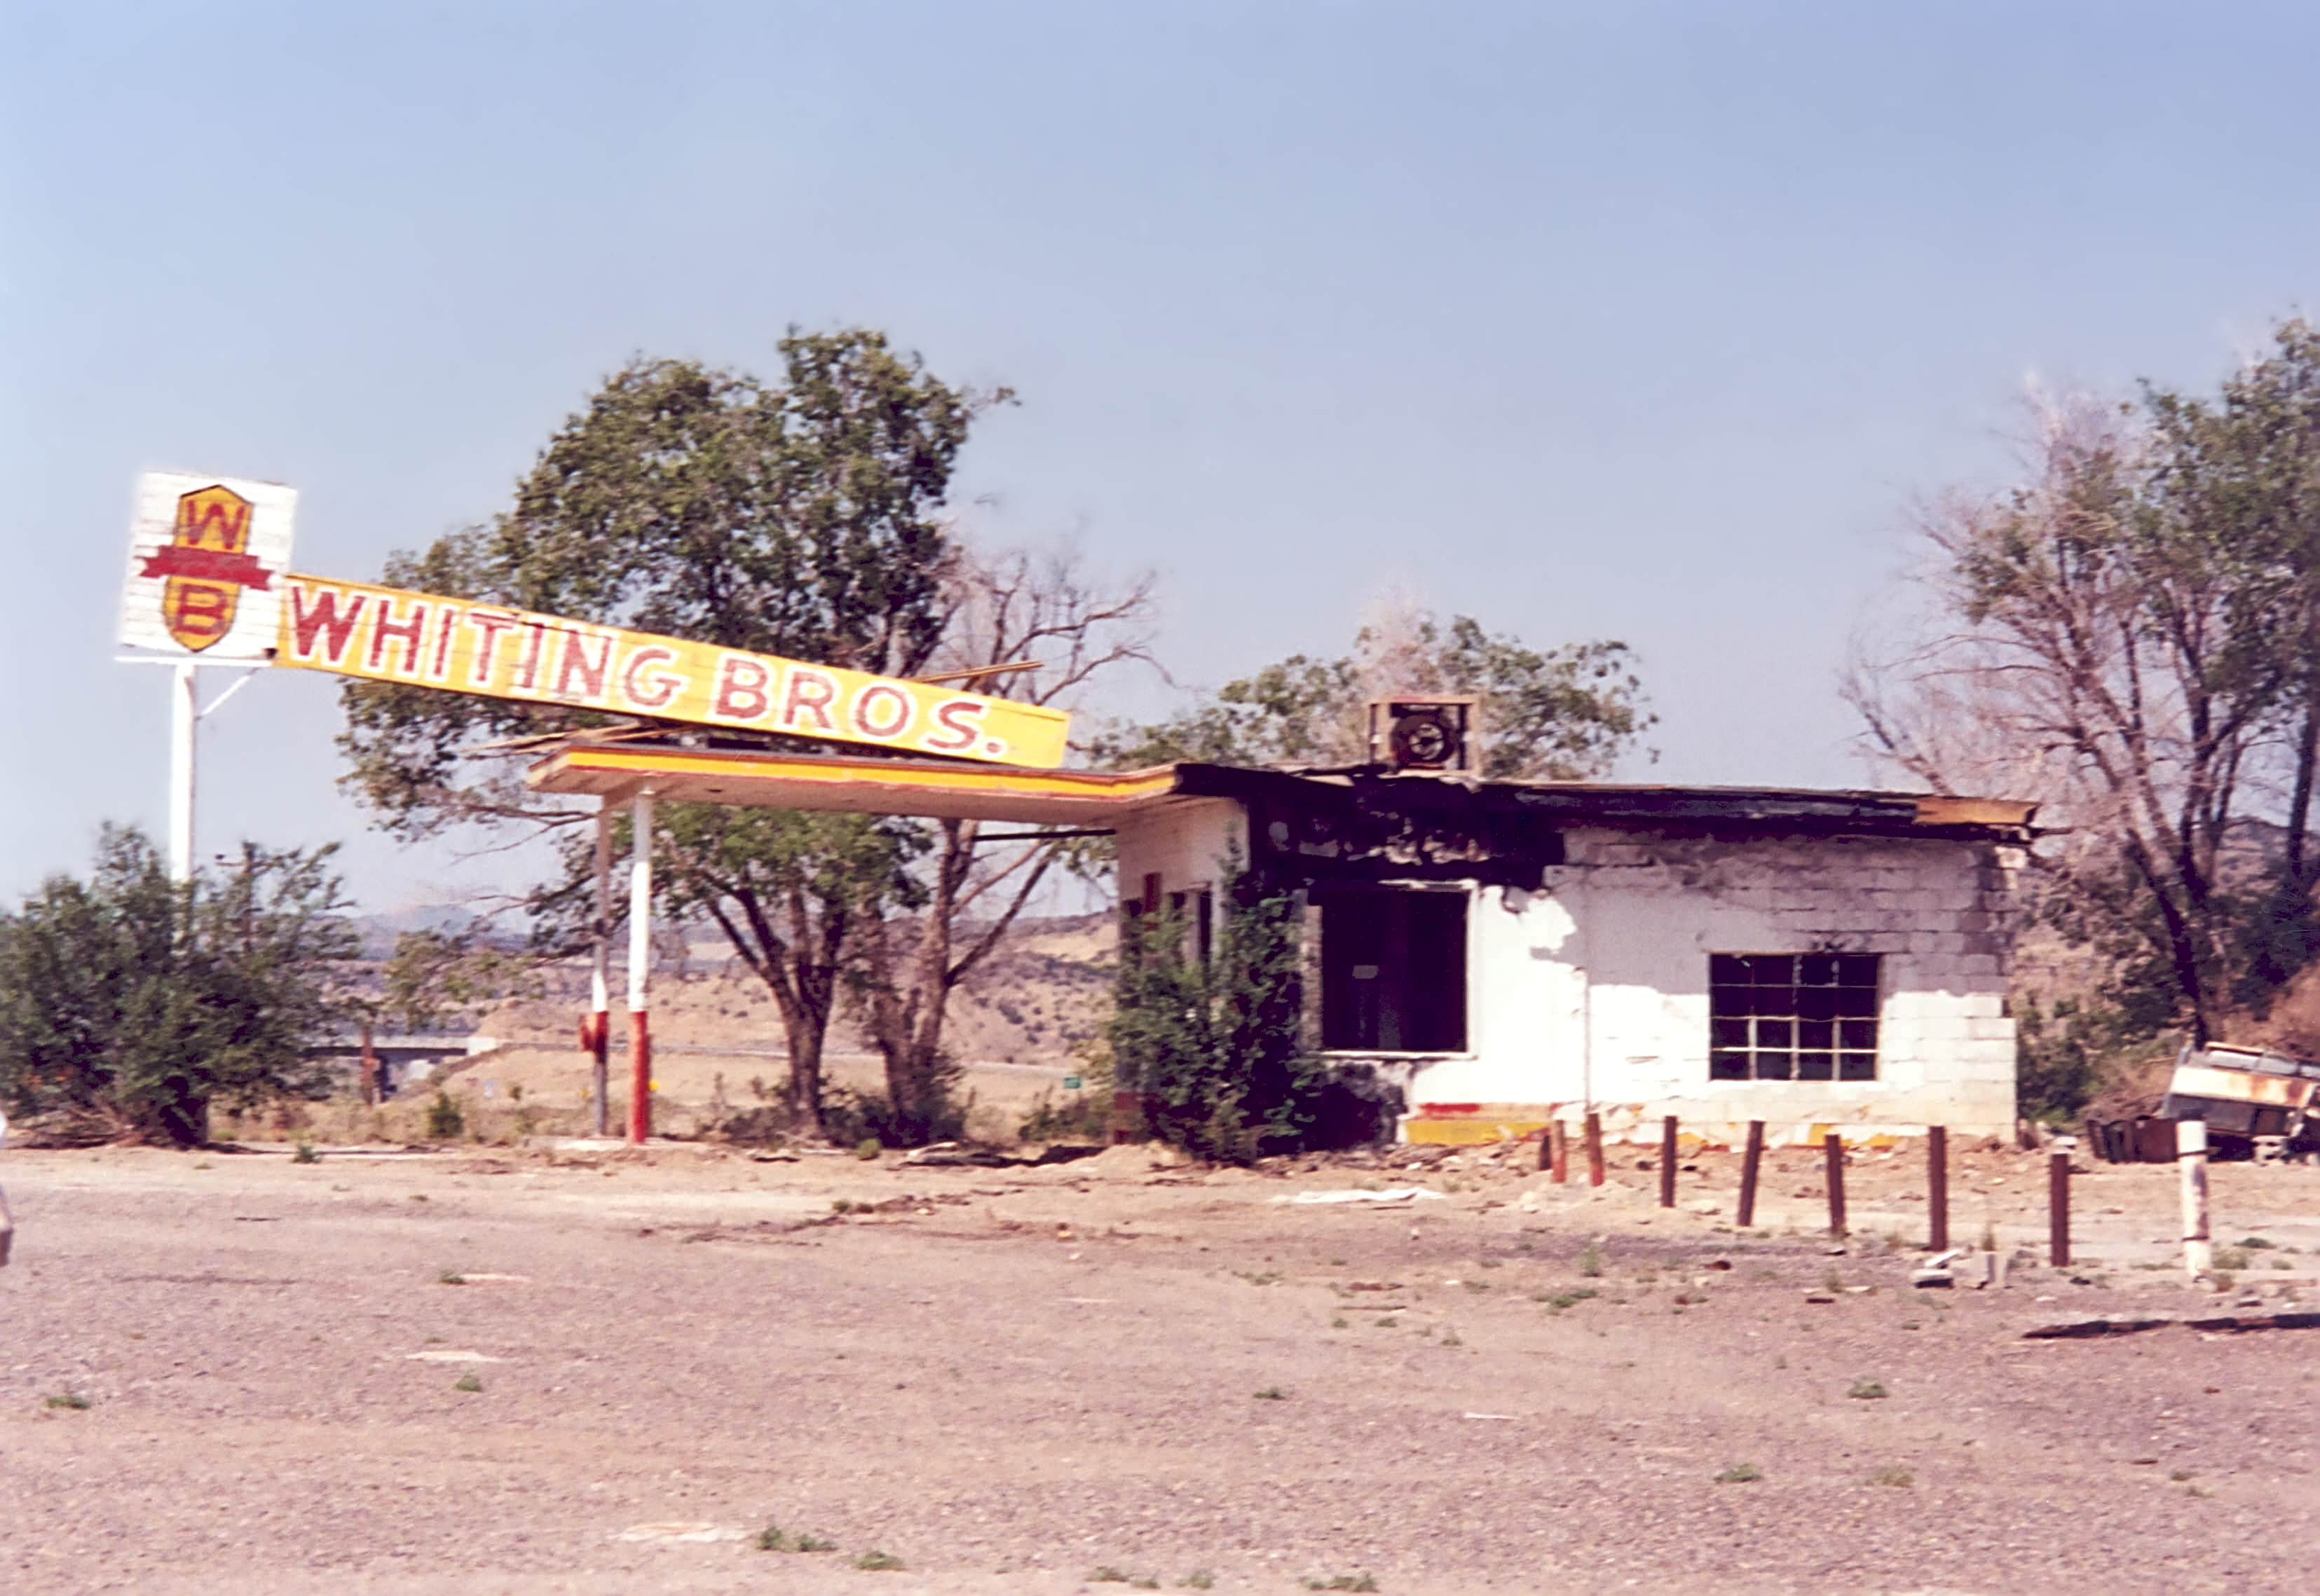
[[[1408,1072],[1422,1102],[1589,1100],[1612,1130],[1766,1120],[1861,1130],[2014,1125],[2000,849],[1573,833],[1545,891],[1478,891],[1471,1046]],[[1710,953],[1884,953],[1877,1081],[1710,1081]]]

